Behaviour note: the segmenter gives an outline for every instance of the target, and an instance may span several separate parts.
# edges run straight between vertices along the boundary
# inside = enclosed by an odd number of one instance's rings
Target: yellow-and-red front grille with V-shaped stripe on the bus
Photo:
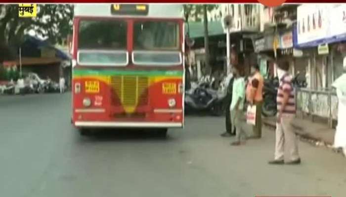
[[[134,107],[148,104],[149,78],[146,76],[120,75],[111,78],[113,105],[122,105],[128,112]]]

